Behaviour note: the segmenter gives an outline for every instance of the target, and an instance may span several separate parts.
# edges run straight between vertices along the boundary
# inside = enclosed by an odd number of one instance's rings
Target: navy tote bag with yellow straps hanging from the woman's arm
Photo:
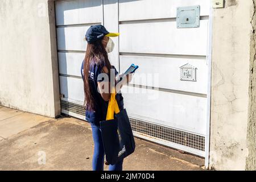
[[[109,164],[116,164],[134,152],[135,141],[130,121],[126,109],[119,110],[115,93],[111,94],[106,121],[101,121],[100,127]]]

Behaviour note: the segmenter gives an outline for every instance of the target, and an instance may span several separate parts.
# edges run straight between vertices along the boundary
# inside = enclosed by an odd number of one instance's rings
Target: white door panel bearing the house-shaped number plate
[[[121,73],[132,64],[139,65],[131,84],[207,94],[207,64],[204,59],[184,57],[120,56]],[[180,67],[192,64],[197,68],[196,81],[181,81]]]

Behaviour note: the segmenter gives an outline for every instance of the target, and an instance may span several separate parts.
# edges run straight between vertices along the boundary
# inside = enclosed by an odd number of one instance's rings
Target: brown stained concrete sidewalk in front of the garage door
[[[136,138],[123,170],[203,170],[204,160]],[[42,157],[46,155],[46,163]],[[92,170],[89,123],[0,106],[0,170]],[[38,162],[39,160],[39,162]],[[108,169],[108,166],[105,166]]]

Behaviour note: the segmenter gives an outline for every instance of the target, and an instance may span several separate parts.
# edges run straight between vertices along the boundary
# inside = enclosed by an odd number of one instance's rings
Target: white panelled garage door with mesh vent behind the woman
[[[200,26],[177,28],[177,7],[198,5]],[[121,33],[113,38],[112,64],[119,72],[139,65],[122,91],[134,134],[205,156],[208,0],[73,0],[56,1],[55,9],[63,113],[84,119],[82,38],[92,24],[104,24]],[[195,80],[181,79],[188,70]]]

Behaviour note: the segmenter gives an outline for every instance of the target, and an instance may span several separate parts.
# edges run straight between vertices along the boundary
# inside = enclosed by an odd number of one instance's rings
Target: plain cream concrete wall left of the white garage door
[[[53,1],[0,1],[0,105],[60,114]]]

